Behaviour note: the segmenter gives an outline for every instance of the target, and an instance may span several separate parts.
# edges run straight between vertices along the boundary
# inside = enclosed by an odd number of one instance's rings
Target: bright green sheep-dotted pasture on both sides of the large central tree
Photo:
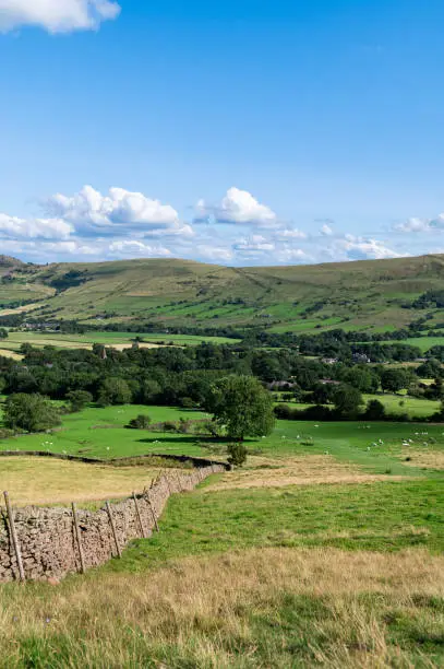
[[[125,429],[124,425],[139,413],[147,413],[153,423],[179,421],[180,418],[208,418],[203,412],[170,407],[92,407],[80,413],[64,415],[62,427],[52,434],[1,439],[0,449],[51,450],[99,458],[145,453],[226,457],[224,439]],[[247,445],[256,455],[328,454],[340,461],[357,463],[371,473],[411,476],[412,467],[403,465],[398,457],[403,442],[407,439],[411,439],[415,448],[424,445],[428,448],[442,448],[444,424],[277,421],[271,436],[247,439]],[[421,477],[431,476],[423,470],[416,473]]]

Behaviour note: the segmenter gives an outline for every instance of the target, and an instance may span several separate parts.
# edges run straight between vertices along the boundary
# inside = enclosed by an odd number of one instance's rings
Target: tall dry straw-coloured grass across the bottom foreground
[[[443,596],[444,558],[419,550],[267,549],[92,572],[0,589],[0,666],[442,666]]]

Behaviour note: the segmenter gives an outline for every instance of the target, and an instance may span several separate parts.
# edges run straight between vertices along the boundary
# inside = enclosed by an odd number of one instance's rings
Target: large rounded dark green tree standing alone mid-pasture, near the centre
[[[273,399],[254,376],[227,376],[212,387],[208,410],[225,426],[231,439],[262,436],[272,432]]]

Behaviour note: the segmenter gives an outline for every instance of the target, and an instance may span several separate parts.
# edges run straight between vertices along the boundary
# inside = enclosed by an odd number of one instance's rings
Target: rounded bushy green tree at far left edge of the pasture
[[[60,413],[46,397],[17,392],[10,395],[4,403],[3,423],[12,430],[44,432],[60,425]]]

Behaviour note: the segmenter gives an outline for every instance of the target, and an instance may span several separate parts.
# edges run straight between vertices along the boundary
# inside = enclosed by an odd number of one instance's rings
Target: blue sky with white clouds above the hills
[[[444,251],[444,3],[0,0],[0,253]]]

